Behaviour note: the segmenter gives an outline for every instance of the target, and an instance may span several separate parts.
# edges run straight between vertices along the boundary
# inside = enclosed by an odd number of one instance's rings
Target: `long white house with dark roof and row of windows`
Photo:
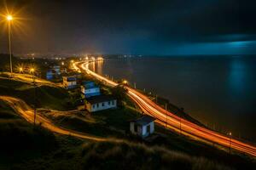
[[[112,95],[98,95],[86,99],[85,107],[90,112],[113,109],[117,107],[117,99]]]

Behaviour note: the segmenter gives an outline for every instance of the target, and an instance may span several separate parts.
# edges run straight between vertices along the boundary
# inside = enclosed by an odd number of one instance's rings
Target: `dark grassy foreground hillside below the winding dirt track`
[[[162,146],[53,135],[27,123],[3,101],[0,138],[0,169],[229,169],[215,161]]]

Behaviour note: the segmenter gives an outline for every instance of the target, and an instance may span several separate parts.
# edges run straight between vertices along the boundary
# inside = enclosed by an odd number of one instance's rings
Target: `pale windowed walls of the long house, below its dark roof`
[[[113,101],[113,103],[112,103],[112,101]],[[110,102],[110,105],[108,104],[108,101],[101,102],[101,103],[98,103],[98,104],[93,104],[93,105],[90,105],[89,103],[87,103],[86,108],[90,112],[102,111],[102,110],[107,110],[107,109],[111,109],[111,108],[116,108],[116,106],[117,106],[116,99],[110,100],[109,102]]]

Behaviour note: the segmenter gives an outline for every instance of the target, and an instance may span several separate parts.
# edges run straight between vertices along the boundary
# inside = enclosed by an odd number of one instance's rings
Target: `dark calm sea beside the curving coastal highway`
[[[207,127],[256,142],[256,56],[118,58],[90,67],[136,82]]]

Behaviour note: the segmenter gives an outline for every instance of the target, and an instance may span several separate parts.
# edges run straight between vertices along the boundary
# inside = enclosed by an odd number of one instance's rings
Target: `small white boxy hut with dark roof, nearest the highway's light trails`
[[[152,116],[142,116],[135,121],[130,122],[130,131],[142,138],[148,137],[149,134],[154,133],[154,120]]]

